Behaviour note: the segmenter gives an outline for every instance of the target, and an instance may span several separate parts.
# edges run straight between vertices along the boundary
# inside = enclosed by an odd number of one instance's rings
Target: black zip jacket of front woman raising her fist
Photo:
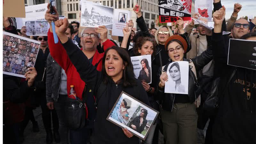
[[[89,92],[93,93],[97,99],[97,113],[94,124],[95,138],[97,139],[94,139],[94,143],[139,143],[139,139],[136,136],[127,138],[120,127],[107,121],[106,118],[122,91],[149,105],[147,93],[142,87],[141,82],[136,80],[136,86],[123,87],[122,82],[115,84],[114,81],[109,78],[108,83],[104,84],[102,82],[102,73],[96,70],[82,51],[72,48],[74,44],[71,40],[68,40],[63,46],[67,51],[69,59],[80,74],[81,79],[92,88]],[[88,90],[88,88],[86,89]]]

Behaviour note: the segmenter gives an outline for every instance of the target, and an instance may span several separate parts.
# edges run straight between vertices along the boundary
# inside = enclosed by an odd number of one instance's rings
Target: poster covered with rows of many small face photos
[[[25,78],[27,68],[34,67],[40,42],[3,32],[3,74]]]

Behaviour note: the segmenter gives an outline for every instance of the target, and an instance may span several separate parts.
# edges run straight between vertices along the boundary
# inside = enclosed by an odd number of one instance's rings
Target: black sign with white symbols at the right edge
[[[256,70],[256,41],[230,39],[228,65]]]

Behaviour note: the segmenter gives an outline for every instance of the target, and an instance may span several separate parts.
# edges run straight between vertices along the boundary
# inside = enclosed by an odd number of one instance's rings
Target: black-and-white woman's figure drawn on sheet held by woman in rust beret
[[[171,65],[169,73],[172,77],[172,80],[175,82],[175,91],[185,92],[185,86],[181,84],[180,80],[180,65],[178,62],[175,62]]]

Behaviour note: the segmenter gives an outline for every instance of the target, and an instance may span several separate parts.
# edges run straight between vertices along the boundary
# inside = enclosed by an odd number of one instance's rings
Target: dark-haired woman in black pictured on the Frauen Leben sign
[[[140,61],[140,64],[142,66],[142,69],[140,70],[140,75],[138,77],[139,80],[142,82],[150,83],[151,81],[151,69],[148,65],[147,59],[142,59]]]

